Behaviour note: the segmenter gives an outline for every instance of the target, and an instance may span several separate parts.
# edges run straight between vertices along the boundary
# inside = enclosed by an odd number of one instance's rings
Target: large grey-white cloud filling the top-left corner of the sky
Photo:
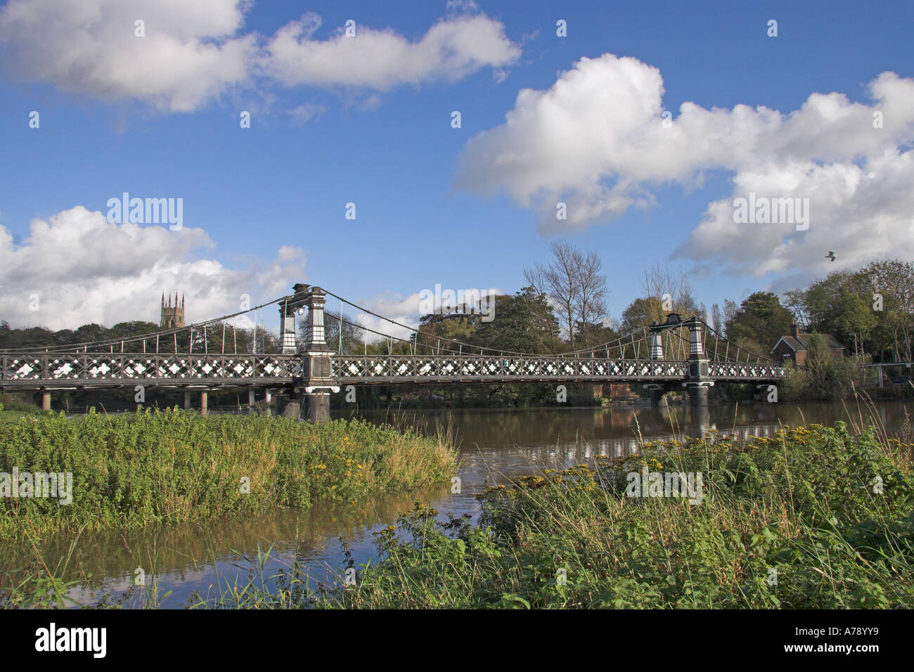
[[[189,112],[250,76],[238,0],[11,0],[0,43],[14,75],[103,101]],[[145,37],[136,37],[143,20]],[[5,59],[5,60],[7,60]]]

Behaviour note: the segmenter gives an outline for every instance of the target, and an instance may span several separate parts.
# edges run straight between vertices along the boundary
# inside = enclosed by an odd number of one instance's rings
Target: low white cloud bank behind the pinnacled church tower
[[[201,322],[238,312],[242,294],[251,305],[266,303],[304,278],[298,248],[283,246],[275,260],[239,270],[197,258],[212,245],[203,229],[112,224],[81,206],[34,219],[21,245],[0,226],[0,315],[12,326],[54,330],[158,322],[162,293],[179,292],[188,323]],[[265,311],[268,326],[278,322],[274,308]]]

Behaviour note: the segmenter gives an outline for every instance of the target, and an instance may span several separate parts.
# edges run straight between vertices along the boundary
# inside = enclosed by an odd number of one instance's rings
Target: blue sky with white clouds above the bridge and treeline
[[[109,3],[85,5],[103,10]],[[618,318],[641,293],[639,274],[655,263],[685,268],[699,300],[710,307],[761,288],[780,291],[870,258],[909,258],[914,252],[910,189],[879,191],[887,177],[836,197],[843,210],[819,208],[824,214],[811,228],[816,238],[790,227],[766,232],[759,226],[742,240],[742,233],[721,233],[732,223],[711,208],[732,200],[735,184],[759,192],[788,184],[771,194],[809,194],[814,204],[822,202],[834,185],[800,185],[810,165],[822,169],[826,182],[826,172],[834,176],[854,166],[865,176],[885,171],[901,184],[914,176],[907,172],[914,129],[909,2],[204,5],[212,10],[208,18],[180,16],[189,10],[175,3],[165,21],[161,8],[126,2],[119,4],[121,20],[113,27],[105,25],[104,12],[87,19],[41,0],[2,5],[0,226],[8,235],[0,231],[0,261],[7,267],[0,270],[0,319],[53,328],[154,320],[159,294],[176,290],[187,294],[188,319],[197,321],[234,312],[239,293],[258,303],[299,281],[374,306],[385,301],[378,312],[393,305],[391,316],[404,319],[414,313],[409,297],[436,283],[514,292],[524,284],[524,266],[547,261],[548,244],[558,237],[600,252],[611,287],[610,315]],[[303,23],[314,27],[319,16],[320,24],[299,37],[299,46],[311,49],[295,57],[310,59],[302,74],[292,61],[277,65],[267,45],[305,12],[312,16]],[[124,21],[131,16],[147,16],[145,37],[123,37],[134,29]],[[380,62],[388,46],[397,48],[394,37],[419,44],[432,27],[456,26],[467,17],[494,27],[494,34],[467,28],[445,40],[441,51],[392,58],[367,79],[359,75],[358,59],[330,62],[336,52],[329,47],[345,39],[339,31],[347,19],[356,21],[351,40],[374,31],[377,45],[371,49],[378,51],[369,49],[367,60]],[[567,21],[567,37],[556,35],[559,19]],[[766,34],[770,19],[778,22],[777,37]],[[218,30],[207,31],[208,21]],[[149,56],[143,62],[145,57],[124,48],[135,44],[122,42],[127,39],[145,39],[143,48],[157,48],[154,39],[164,39],[168,30],[175,31],[174,39],[163,42],[163,49],[183,41],[198,51],[207,45],[228,51],[228,41],[250,39],[257,45],[251,49],[259,49],[250,60],[258,66],[238,74],[245,66],[226,58],[185,69],[180,57]],[[472,59],[449,65],[450,52],[468,40]],[[329,54],[326,71],[320,65],[323,48]],[[417,61],[432,52],[444,53],[445,63],[423,70]],[[636,61],[626,62],[635,65],[625,70],[622,60],[600,60],[604,54],[631,57]],[[565,107],[557,115],[548,112],[549,105],[537,107],[536,96],[547,96],[561,73],[584,58],[593,59],[589,73],[566,82],[578,92],[563,101],[557,91],[554,104]],[[402,70],[412,66],[420,74],[410,80]],[[384,67],[390,71],[380,71]],[[578,106],[569,100],[592,101],[589,87],[606,99],[588,104],[604,105],[610,117],[628,119],[628,110],[637,116],[652,100],[642,95],[651,88],[652,68],[662,78],[661,107],[672,112],[674,124],[684,103],[694,103],[704,115],[688,126],[686,113],[676,130],[685,135],[675,143],[664,147],[664,136],[654,131],[659,119],[648,132],[638,117],[631,133],[613,138],[618,124],[601,129],[594,123],[599,108],[576,119]],[[871,82],[887,72],[898,80],[887,82],[884,101],[874,101]],[[628,78],[631,91],[616,96],[601,84],[604,74],[609,83]],[[211,93],[196,95],[207,87]],[[525,89],[537,92],[528,108],[518,101]],[[849,106],[841,113],[844,121],[816,123],[810,112],[794,114],[795,128],[788,128],[790,115],[812,94],[833,92]],[[865,109],[853,112],[854,103]],[[747,128],[734,112],[739,105],[778,111],[781,123],[768,128],[763,115],[752,112]],[[871,112],[883,107],[909,113],[887,119],[886,133],[876,140],[847,140],[847,119],[868,123]],[[752,147],[715,147],[689,163],[704,151],[704,137],[711,134],[705,117],[714,108],[724,112],[723,125],[733,126],[727,142],[748,138]],[[525,109],[529,123],[505,129],[505,115],[523,116]],[[40,114],[37,129],[29,127],[31,111]],[[250,112],[250,129],[239,127],[241,111]],[[459,129],[452,128],[452,111],[461,112]],[[562,167],[553,174],[546,159],[554,144],[536,149],[552,133],[548,123],[567,124],[557,131],[559,138],[582,137],[584,146],[596,145],[582,159],[593,166],[594,179],[573,168],[567,176],[558,176]],[[526,136],[530,129],[538,130]],[[816,135],[816,146],[794,151],[798,143],[792,139],[807,135]],[[571,162],[577,159],[574,146]],[[494,155],[523,154],[527,147],[534,147],[530,163],[546,161],[537,177],[529,165],[492,167]],[[629,147],[637,151],[623,158]],[[879,163],[887,147],[894,152],[891,165]],[[678,162],[683,165],[669,168]],[[779,183],[791,170],[796,179]],[[645,197],[647,205],[606,205],[621,202],[612,200],[618,195],[611,187],[626,179],[632,186],[622,189],[622,197]],[[138,229],[157,230],[109,236],[90,213],[98,211],[103,219],[108,199],[124,191],[183,198],[183,226],[190,230],[143,223]],[[542,226],[543,212],[554,212],[559,197],[567,197],[576,217]],[[356,204],[354,220],[345,219],[349,202]],[[80,206],[88,212],[74,213]],[[584,208],[590,215],[578,217]],[[866,213],[870,220],[842,212]],[[36,234],[35,220],[49,222],[45,235]],[[703,220],[705,229],[699,230]],[[879,240],[871,240],[874,227],[885,227]],[[708,246],[708,236],[730,242]],[[827,249],[836,251],[834,263],[823,258]],[[30,293],[43,297],[39,315],[27,310]],[[268,320],[275,321],[273,315]]]

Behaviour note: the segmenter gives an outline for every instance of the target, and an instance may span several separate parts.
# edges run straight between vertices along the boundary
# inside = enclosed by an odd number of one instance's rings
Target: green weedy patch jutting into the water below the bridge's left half
[[[446,436],[359,420],[177,410],[22,416],[0,422],[0,472],[71,472],[72,503],[0,498],[0,539],[353,503],[446,481],[454,458]]]

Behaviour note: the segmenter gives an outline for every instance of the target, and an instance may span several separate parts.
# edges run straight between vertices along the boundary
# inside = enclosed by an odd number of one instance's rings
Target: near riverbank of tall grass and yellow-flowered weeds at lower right
[[[644,443],[495,486],[478,525],[420,504],[376,534],[354,585],[309,591],[292,571],[216,606],[911,608],[911,447],[844,422]],[[671,473],[691,490],[632,492]]]

